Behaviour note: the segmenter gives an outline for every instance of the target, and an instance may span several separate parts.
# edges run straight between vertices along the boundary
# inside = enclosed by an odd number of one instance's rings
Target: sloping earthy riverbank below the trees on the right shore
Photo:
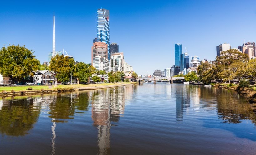
[[[243,94],[246,99],[248,99],[250,105],[253,108],[254,113],[256,113],[256,86],[251,86],[251,87],[239,87],[238,84],[215,84],[213,85],[214,87],[219,87],[219,88],[226,88],[226,89],[231,89],[238,91],[239,93]]]

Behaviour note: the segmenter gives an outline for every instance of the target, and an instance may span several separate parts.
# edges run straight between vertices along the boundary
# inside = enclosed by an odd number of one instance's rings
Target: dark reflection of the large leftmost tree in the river
[[[0,110],[0,131],[10,136],[22,136],[33,128],[40,114],[40,105],[33,100],[3,100]]]

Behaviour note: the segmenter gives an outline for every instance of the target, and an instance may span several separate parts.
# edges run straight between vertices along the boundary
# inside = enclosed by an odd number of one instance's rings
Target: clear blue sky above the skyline
[[[246,2],[243,4],[243,2]],[[256,41],[256,1],[2,1],[0,44],[25,45],[41,63],[52,51],[55,11],[56,51],[91,63],[97,37],[97,9],[110,10],[110,43],[119,44],[138,74],[174,64],[174,44],[190,56],[214,60],[216,46]]]

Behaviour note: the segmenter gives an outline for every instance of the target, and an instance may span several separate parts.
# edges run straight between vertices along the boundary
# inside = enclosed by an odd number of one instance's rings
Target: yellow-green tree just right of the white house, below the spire
[[[67,82],[67,79],[71,76],[71,71],[75,71],[74,64],[73,58],[56,55],[51,59],[49,69],[56,73],[58,81]]]

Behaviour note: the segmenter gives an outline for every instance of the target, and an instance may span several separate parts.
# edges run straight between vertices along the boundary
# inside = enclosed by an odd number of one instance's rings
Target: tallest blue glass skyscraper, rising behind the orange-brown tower
[[[110,61],[109,46],[109,10],[98,9],[97,11],[97,40],[108,45],[108,60]]]

